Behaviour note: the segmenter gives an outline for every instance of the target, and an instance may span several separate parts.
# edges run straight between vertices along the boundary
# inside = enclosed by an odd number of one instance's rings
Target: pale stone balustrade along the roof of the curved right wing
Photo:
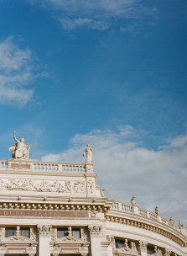
[[[112,210],[124,211],[124,212],[130,213],[130,214],[143,216],[144,218],[148,218],[153,221],[161,222],[165,225],[168,225],[169,227],[174,227],[173,223],[164,219],[162,216],[159,216],[158,214],[153,213],[152,211],[144,210],[143,208],[139,207],[138,205],[130,205],[130,204],[125,204],[122,202],[114,201],[112,203],[111,208],[112,208]]]

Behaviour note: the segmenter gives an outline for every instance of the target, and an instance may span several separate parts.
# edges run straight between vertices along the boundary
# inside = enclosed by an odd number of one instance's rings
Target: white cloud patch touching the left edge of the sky
[[[20,49],[8,37],[0,41],[0,60],[0,103],[27,104],[34,94],[34,89],[25,88],[34,77],[31,51]]]

